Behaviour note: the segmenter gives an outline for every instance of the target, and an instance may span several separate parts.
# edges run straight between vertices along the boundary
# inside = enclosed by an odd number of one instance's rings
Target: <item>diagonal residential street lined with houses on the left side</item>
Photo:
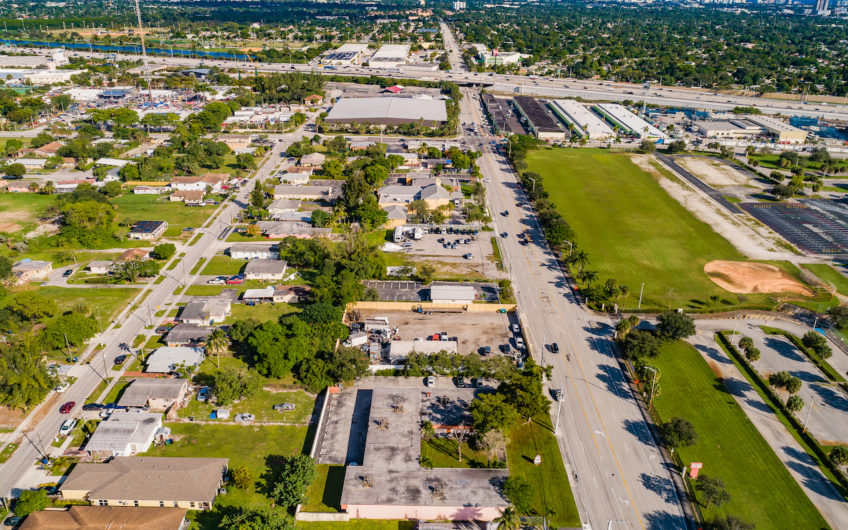
[[[60,414],[59,406],[56,405],[53,410],[48,411],[41,418],[37,425],[28,425],[27,420],[22,423],[22,427],[19,428],[25,433],[26,438],[9,460],[0,467],[0,496],[9,496],[12,490],[32,488],[38,485],[37,482],[33,483],[33,481],[37,481],[40,475],[34,474],[33,469],[36,460],[46,449],[43,445],[50,443],[56,433],[59,432],[59,427],[64,420],[80,414],[83,403],[103,380],[104,374],[107,377],[116,376],[117,378],[121,373],[111,370],[112,360],[125,353],[121,350],[120,345],[132,344],[137,335],[150,335],[152,330],[145,330],[145,326],[152,324],[155,327],[165,318],[154,316],[158,309],[180,301],[180,296],[173,295],[174,290],[180,285],[190,285],[194,281],[194,276],[196,276],[191,275],[190,271],[198,260],[212,257],[219,247],[225,244],[218,240],[218,235],[230,226],[233,217],[246,204],[256,178],[264,179],[270,176],[276,162],[280,159],[282,147],[283,143],[275,144],[268,155],[270,159],[251,177],[250,184],[242,187],[234,200],[223,203],[218,210],[218,215],[214,216],[214,220],[212,220],[213,216],[210,216],[203,227],[196,231],[196,233],[202,233],[201,239],[197,243],[192,246],[185,244],[178,249],[177,254],[185,252],[181,265],[172,271],[167,271],[163,267],[165,279],[162,283],[146,286],[135,300],[128,304],[128,309],[119,315],[105,332],[92,339],[92,345],[105,344],[106,347],[99,352],[94,352],[93,347],[89,347],[86,353],[81,356],[80,363],[84,363],[86,360],[90,361],[90,364],[87,365],[90,369],[85,371],[65,391],[59,401],[59,404],[68,401],[76,402],[71,413]],[[145,293],[148,294],[145,296]],[[143,300],[143,302],[139,302],[140,300]],[[115,326],[114,322],[119,322],[120,326]],[[129,364],[126,363],[125,366]],[[44,406],[44,404],[41,406]],[[9,439],[16,437],[17,433],[14,433]]]

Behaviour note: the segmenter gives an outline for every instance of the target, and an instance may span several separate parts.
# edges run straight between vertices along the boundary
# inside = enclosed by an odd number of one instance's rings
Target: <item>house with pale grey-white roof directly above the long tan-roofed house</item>
[[[132,386],[132,385],[130,385]],[[117,409],[97,426],[84,449],[92,456],[130,456],[150,449],[162,414]]]

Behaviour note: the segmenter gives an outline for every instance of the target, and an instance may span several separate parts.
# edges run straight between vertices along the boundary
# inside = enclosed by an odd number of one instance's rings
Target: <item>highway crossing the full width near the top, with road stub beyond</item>
[[[632,83],[619,83],[614,81],[602,81],[594,79],[572,79],[572,78],[550,78],[530,77],[520,75],[476,73],[465,71],[461,66],[461,60],[457,59],[458,49],[453,37],[445,40],[448,46],[448,56],[451,64],[457,67],[449,72],[445,71],[417,71],[397,69],[368,68],[359,65],[334,66],[331,68],[319,67],[317,64],[288,64],[288,63],[262,63],[262,62],[237,62],[228,60],[193,59],[185,57],[163,57],[150,56],[151,67],[175,66],[185,68],[218,66],[220,68],[233,68],[240,66],[246,71],[257,70],[260,72],[319,72],[325,74],[341,75],[379,75],[385,77],[399,77],[406,79],[422,79],[431,81],[454,81],[461,84],[474,84],[493,86],[498,92],[507,92],[525,95],[537,95],[547,97],[582,97],[590,101],[623,101],[647,99],[650,104],[663,106],[681,106],[700,110],[728,111],[734,107],[754,106],[765,114],[784,114],[795,116],[811,116],[828,119],[848,120],[848,106],[828,103],[805,104],[800,101],[782,101],[759,97],[730,96],[718,94],[715,91],[699,88],[685,88],[672,86],[652,86],[647,97],[642,85]],[[18,51],[26,53],[46,54],[48,50],[39,48],[17,48]],[[105,53],[71,51],[71,56],[79,57],[105,57]],[[139,55],[124,55],[128,59],[141,60]]]

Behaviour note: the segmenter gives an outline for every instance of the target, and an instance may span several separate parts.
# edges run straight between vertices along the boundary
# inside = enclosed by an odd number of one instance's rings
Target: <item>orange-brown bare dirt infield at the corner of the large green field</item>
[[[742,261],[710,261],[704,272],[719,287],[731,293],[814,293],[786,271],[767,263]]]

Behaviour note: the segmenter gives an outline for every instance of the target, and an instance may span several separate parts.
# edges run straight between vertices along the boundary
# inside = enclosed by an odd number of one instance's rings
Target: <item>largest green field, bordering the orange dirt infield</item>
[[[541,149],[527,155],[529,171],[541,175],[550,200],[574,229],[598,282],[615,278],[630,288],[621,303],[642,309],[697,309],[717,295],[737,295],[713,283],[704,264],[744,261],[724,238],[674,200],[628,155],[601,149]],[[768,303],[746,295],[747,304]],[[726,304],[729,305],[729,304]]]

